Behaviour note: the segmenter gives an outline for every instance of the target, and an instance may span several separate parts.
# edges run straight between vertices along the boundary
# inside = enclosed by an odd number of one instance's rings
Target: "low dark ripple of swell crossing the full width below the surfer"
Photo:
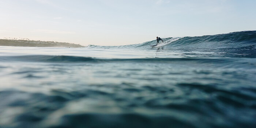
[[[255,63],[255,59],[244,59]],[[233,63],[238,58],[138,58],[138,59],[98,59],[82,56],[50,56],[50,55],[25,55],[25,56],[0,56],[1,62],[45,62],[45,63],[104,63],[104,62],[149,62],[149,63],[173,63],[173,62],[198,62],[198,63]]]

